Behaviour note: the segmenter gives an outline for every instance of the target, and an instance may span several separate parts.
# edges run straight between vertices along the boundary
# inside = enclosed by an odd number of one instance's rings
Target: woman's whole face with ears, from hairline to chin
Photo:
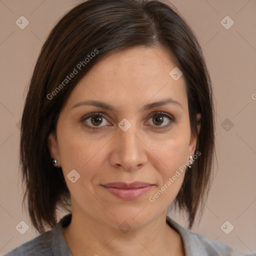
[[[123,221],[137,228],[166,214],[184,178],[180,166],[196,145],[184,77],[169,74],[172,59],[160,47],[122,50],[94,65],[71,92],[57,140],[50,135],[48,145],[62,167],[73,214],[114,228]],[[106,188],[134,181],[150,185]]]

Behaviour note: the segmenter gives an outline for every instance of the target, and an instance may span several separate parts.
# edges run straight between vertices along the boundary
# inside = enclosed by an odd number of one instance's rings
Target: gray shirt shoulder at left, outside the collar
[[[18,247],[7,252],[3,256],[23,256],[23,255],[54,255],[51,250],[51,238],[53,231],[47,231],[35,238],[22,243]]]

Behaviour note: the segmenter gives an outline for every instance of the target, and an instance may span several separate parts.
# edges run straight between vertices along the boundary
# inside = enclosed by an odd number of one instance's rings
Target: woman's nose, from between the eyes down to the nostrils
[[[116,133],[112,141],[111,164],[128,171],[141,168],[147,161],[148,148],[135,123],[126,131],[117,127]]]

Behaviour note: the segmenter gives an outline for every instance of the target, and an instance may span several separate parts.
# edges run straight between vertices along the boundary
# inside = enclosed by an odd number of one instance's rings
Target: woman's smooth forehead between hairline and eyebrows
[[[133,47],[101,59],[77,83],[68,104],[95,99],[127,107],[167,97],[186,104],[184,79],[174,80],[171,53],[161,47]]]

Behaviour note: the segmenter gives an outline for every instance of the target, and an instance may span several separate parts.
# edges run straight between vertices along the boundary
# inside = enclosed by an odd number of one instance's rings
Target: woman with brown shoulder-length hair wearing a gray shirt
[[[166,217],[173,202],[191,228],[202,212],[213,116],[201,48],[171,7],[74,7],[42,47],[22,115],[24,199],[40,235],[6,255],[245,255]]]

